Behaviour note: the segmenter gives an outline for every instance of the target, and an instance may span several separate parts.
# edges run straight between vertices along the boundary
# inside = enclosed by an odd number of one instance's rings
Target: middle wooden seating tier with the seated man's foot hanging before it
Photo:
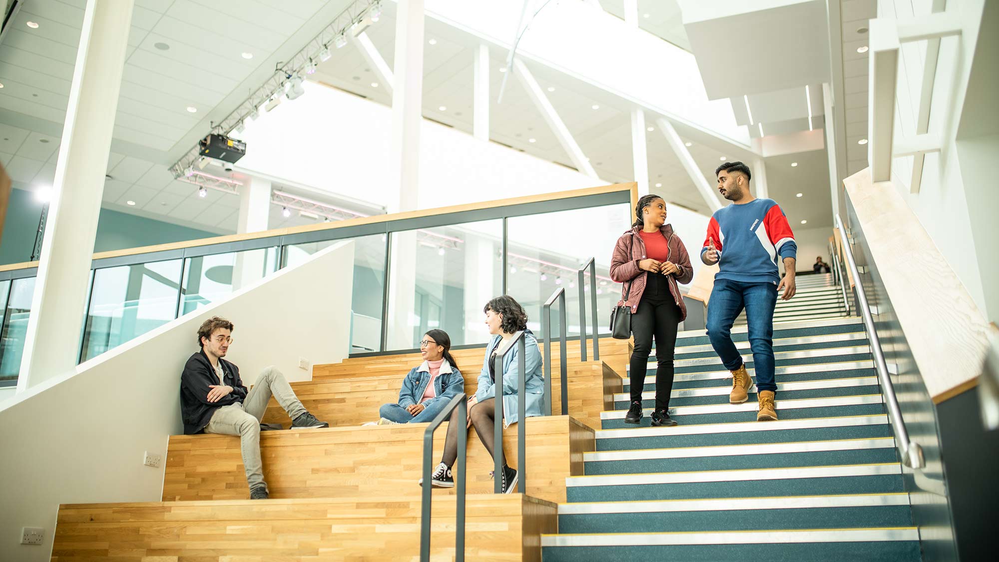
[[[568,416],[527,418],[527,494],[565,501],[565,478],[581,475],[582,454],[595,450],[593,430]],[[413,495],[423,476],[424,431],[405,424],[261,434],[264,478],[272,498]],[[447,424],[435,435],[441,458]],[[516,424],[503,432],[507,463],[516,466]],[[474,430],[469,434],[469,493],[493,491],[493,458]],[[447,495],[453,490],[440,490]],[[250,497],[240,439],[229,435],[174,435],[167,451],[163,500]]]

